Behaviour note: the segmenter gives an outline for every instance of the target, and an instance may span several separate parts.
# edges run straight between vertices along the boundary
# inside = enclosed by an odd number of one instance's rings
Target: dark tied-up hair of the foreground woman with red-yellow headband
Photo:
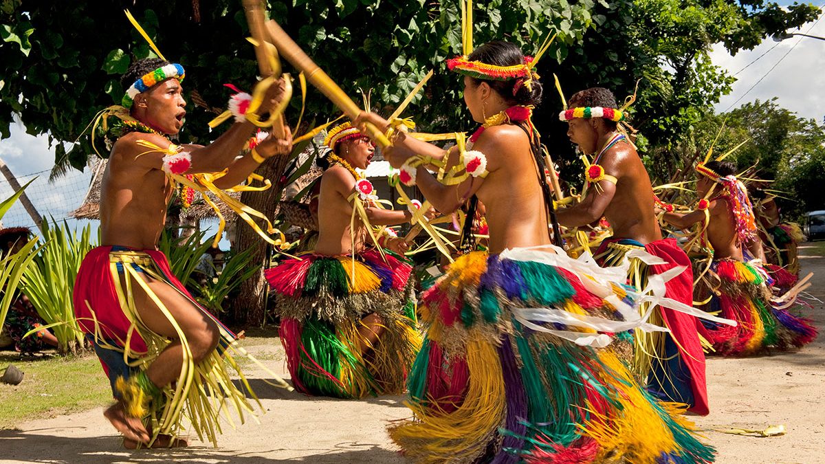
[[[479,48],[475,49],[473,53],[467,57],[470,61],[480,61],[486,64],[493,64],[496,66],[514,66],[516,64],[524,63],[524,54],[518,45],[503,40],[493,40]],[[505,101],[512,105],[533,105],[538,107],[541,103],[541,83],[535,79],[531,83],[532,90],[521,85],[516,93],[513,94],[513,88],[516,86],[516,79],[507,81],[497,81],[493,79],[479,79],[472,78],[475,85],[479,83],[488,83]]]

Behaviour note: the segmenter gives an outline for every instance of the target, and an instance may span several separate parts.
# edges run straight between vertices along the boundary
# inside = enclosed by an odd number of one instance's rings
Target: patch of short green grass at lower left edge
[[[24,358],[0,353],[0,370],[9,364],[26,376],[17,386],[0,383],[0,429],[111,402],[109,382],[93,354]]]

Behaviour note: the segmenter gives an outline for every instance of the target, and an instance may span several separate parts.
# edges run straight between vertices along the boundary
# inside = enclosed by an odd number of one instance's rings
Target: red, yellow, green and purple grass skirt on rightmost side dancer
[[[714,350],[725,356],[747,356],[768,347],[801,347],[813,341],[817,329],[812,321],[794,315],[787,304],[774,304],[770,277],[751,263],[725,258],[714,261],[696,286],[696,301],[707,301],[704,309],[736,327],[702,321]]]

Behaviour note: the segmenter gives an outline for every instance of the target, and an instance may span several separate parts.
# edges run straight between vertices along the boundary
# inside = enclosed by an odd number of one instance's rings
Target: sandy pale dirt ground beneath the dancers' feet
[[[802,249],[806,252],[813,253],[813,248]],[[809,291],[825,300],[825,257],[804,256],[802,263],[804,273],[815,272]],[[808,315],[825,327],[823,304],[813,302],[813,308]],[[250,352],[284,373],[276,339],[272,345],[250,347]],[[795,353],[709,360],[711,413],[694,419],[718,449],[717,462],[825,462],[823,355],[825,336]],[[249,374],[253,379],[262,376],[254,370]],[[253,382],[266,408],[261,424],[249,422],[234,430],[227,426],[218,449],[192,440],[191,447],[176,451],[125,451],[102,410],[96,409],[0,430],[0,462],[405,462],[384,432],[388,421],[409,416],[402,397],[309,398]],[[785,425],[787,433],[770,438],[714,431],[778,424]]]

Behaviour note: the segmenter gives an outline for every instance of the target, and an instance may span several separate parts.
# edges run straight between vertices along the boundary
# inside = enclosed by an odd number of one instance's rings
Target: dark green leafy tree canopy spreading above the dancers
[[[653,157],[691,134],[733,82],[709,62],[709,46],[731,53],[750,49],[766,36],[816,17],[812,5],[787,9],[775,3],[731,0],[490,0],[475,2],[475,43],[512,40],[535,52],[549,33],[559,37],[539,64],[545,103],[536,122],[554,149],[572,159],[563,125],[554,114],[551,73],[563,88],[601,85],[616,95],[633,92],[634,125]],[[183,140],[212,140],[205,125],[224,107],[224,83],[249,88],[257,73],[241,2],[238,0],[134,2],[26,2],[0,0],[0,135],[9,135],[12,114],[26,131],[74,142],[103,107],[120,102],[120,73],[134,59],[152,55],[126,21],[134,16],[160,50],[187,70],[190,102]],[[373,101],[393,105],[435,69],[413,116],[427,130],[469,129],[460,99],[460,79],[445,60],[460,53],[460,2],[447,0],[291,0],[268,2],[271,16],[351,94],[371,89]],[[192,107],[197,109],[192,111]],[[298,99],[293,106],[297,110]],[[318,119],[337,111],[310,91],[307,114]],[[289,116],[289,115],[288,115]],[[91,153],[87,138],[56,163],[82,168]],[[670,164],[663,169],[672,168]]]

